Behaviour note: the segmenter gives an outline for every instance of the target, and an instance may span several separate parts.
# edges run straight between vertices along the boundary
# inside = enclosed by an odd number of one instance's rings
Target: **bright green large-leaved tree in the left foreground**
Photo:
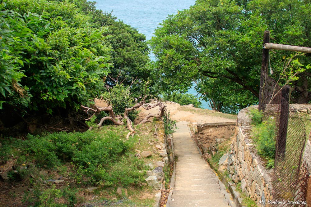
[[[76,110],[100,96],[112,66],[106,28],[93,27],[90,18],[67,1],[4,2],[2,103],[12,106],[15,95],[27,99],[29,110],[52,113],[60,107]]]

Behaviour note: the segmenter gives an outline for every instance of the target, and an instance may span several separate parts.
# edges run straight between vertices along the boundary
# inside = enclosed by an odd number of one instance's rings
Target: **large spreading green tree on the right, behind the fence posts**
[[[256,103],[264,30],[274,43],[310,47],[310,11],[309,1],[198,0],[169,15],[150,41],[159,87],[185,92],[196,81],[197,91],[220,111]],[[289,54],[271,54],[276,79]],[[309,64],[308,57],[300,62]]]

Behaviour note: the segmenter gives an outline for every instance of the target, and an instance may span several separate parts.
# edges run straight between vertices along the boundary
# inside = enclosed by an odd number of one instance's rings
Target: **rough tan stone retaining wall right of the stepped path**
[[[272,200],[271,178],[262,166],[260,158],[254,153],[253,144],[248,140],[250,119],[247,111],[248,108],[245,108],[238,114],[227,169],[235,183],[241,182],[242,192],[246,196],[255,200],[258,206],[270,206],[268,200]]]

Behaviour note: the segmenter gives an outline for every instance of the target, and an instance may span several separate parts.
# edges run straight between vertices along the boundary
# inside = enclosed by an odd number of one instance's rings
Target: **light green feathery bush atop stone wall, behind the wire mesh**
[[[270,117],[252,128],[253,140],[257,143],[258,154],[265,158],[275,157],[275,121]]]

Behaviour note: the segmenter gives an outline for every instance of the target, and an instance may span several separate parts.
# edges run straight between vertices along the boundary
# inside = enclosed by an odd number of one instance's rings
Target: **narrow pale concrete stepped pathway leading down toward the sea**
[[[225,189],[197,150],[188,130],[187,122],[176,123],[173,133],[176,162],[175,186],[169,206],[229,206]]]

